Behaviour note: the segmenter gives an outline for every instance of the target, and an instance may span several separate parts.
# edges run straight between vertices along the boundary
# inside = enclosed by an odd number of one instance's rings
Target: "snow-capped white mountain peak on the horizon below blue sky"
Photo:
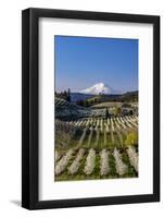
[[[80,90],[79,93],[90,94],[90,95],[99,95],[99,94],[111,95],[111,94],[121,94],[122,92],[114,90],[104,83],[98,83],[89,88]]]

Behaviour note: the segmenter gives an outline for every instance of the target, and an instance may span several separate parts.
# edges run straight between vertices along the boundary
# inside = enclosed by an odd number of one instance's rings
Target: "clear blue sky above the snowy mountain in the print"
[[[138,39],[54,36],[58,92],[103,82],[115,90],[138,90]]]

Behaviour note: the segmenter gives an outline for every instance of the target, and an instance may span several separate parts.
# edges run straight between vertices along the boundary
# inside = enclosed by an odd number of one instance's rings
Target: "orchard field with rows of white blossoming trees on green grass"
[[[56,123],[71,136],[56,137],[55,181],[138,177],[137,116]]]

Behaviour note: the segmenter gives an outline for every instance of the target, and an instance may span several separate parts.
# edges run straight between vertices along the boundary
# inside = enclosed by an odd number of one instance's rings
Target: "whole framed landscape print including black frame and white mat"
[[[160,201],[160,17],[22,13],[22,206]]]

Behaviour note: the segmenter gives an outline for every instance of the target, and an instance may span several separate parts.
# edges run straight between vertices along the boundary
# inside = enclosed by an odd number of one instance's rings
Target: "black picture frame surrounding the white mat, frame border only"
[[[40,17],[146,23],[153,25],[153,194],[39,201],[38,21]],[[22,12],[22,206],[27,209],[160,201],[160,16],[52,9]]]

